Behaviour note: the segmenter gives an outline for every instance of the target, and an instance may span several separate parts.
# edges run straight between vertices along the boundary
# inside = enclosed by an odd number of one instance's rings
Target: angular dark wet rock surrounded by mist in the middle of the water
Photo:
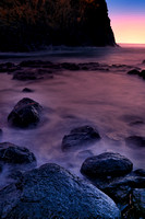
[[[90,126],[82,126],[74,128],[71,132],[63,137],[61,148],[63,151],[69,149],[77,149],[80,147],[88,146],[100,140],[97,130]]]

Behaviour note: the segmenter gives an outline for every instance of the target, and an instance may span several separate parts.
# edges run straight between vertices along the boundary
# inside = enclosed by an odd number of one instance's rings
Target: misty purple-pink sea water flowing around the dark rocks
[[[126,74],[129,69],[145,69],[145,47],[116,48],[49,48],[31,54],[0,54],[0,62],[22,60],[50,60],[53,62],[99,62],[109,70],[69,71],[53,79],[16,81],[11,74],[0,74],[1,142],[10,141],[32,150],[38,165],[58,163],[72,173],[80,174],[83,161],[106,151],[124,154],[134,169],[145,168],[145,147],[128,147],[129,136],[145,136],[145,81]],[[113,66],[112,66],[113,65]],[[23,93],[24,88],[33,93]],[[33,129],[12,128],[8,115],[23,97],[31,97],[44,107],[43,120]],[[137,122],[142,123],[137,123]],[[83,125],[95,127],[101,140],[62,152],[61,141],[72,128]]]

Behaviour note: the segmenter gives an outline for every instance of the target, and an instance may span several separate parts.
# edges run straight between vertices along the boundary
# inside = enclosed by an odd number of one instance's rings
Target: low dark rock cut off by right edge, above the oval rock
[[[130,136],[125,138],[125,145],[128,147],[133,147],[133,148],[144,148],[145,147],[145,137],[141,136]]]

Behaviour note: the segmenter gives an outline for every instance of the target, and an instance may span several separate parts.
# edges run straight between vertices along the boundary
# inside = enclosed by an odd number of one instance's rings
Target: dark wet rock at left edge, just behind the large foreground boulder
[[[37,162],[35,155],[27,148],[3,142],[0,143],[0,163],[15,165],[21,170],[35,168]]]

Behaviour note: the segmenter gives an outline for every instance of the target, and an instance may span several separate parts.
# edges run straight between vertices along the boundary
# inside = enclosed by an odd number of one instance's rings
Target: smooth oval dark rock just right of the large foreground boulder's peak
[[[92,178],[117,177],[130,173],[132,169],[133,163],[128,158],[119,153],[105,152],[86,159],[81,173]]]

